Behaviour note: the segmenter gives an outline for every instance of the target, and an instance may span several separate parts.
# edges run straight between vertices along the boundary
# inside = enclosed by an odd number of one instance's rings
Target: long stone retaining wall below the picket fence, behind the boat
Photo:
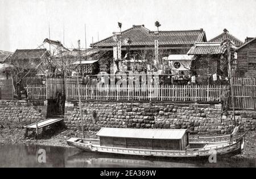
[[[233,129],[230,119],[222,119],[221,105],[171,102],[83,101],[85,130],[101,127],[188,128],[194,134],[226,133]],[[66,101],[65,123],[81,129],[79,102]]]

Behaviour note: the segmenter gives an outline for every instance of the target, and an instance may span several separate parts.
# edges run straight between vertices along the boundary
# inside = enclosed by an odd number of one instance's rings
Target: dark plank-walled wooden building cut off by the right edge
[[[256,38],[237,48],[237,70],[240,77],[256,77]]]

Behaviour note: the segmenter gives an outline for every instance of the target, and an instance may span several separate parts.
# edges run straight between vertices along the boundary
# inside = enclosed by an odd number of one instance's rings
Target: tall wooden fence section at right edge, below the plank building
[[[233,78],[233,90],[234,109],[256,109],[256,78]]]

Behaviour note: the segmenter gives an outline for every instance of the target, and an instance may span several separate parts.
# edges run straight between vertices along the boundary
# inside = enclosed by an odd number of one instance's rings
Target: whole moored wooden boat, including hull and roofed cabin
[[[68,145],[84,151],[155,157],[232,156],[241,153],[245,134],[189,140],[185,129],[101,128],[99,139],[71,138]],[[229,137],[229,140],[225,138]],[[223,140],[222,140],[223,139]]]

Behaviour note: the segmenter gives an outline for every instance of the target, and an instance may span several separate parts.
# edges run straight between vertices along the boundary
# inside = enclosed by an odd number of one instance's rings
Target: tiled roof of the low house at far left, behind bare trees
[[[12,57],[17,59],[39,59],[44,53],[48,53],[47,49],[16,49]]]

